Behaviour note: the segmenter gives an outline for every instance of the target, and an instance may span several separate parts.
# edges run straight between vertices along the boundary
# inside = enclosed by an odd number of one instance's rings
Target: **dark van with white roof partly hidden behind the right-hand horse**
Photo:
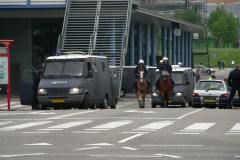
[[[155,82],[157,81],[159,72],[156,71]],[[170,96],[170,105],[181,105],[186,107],[192,103],[192,92],[195,87],[194,72],[191,68],[179,67],[178,65],[172,65],[172,75],[174,81],[173,93]],[[155,86],[152,87],[152,108],[157,105],[163,105],[162,97],[158,90],[155,90]]]

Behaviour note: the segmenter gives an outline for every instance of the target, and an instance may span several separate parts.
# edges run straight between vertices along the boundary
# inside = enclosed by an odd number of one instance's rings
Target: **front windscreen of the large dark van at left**
[[[50,61],[46,63],[44,76],[82,76],[82,61]]]

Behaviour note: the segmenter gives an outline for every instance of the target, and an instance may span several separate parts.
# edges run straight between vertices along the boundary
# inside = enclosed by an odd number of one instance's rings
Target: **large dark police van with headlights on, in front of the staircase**
[[[32,109],[116,108],[113,80],[104,56],[68,52],[48,57],[38,85],[38,104]]]

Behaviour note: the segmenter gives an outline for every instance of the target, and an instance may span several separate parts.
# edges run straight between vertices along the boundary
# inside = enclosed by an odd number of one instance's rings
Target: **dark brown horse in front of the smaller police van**
[[[161,79],[159,80],[158,89],[160,95],[163,99],[163,106],[167,107],[169,103],[170,93],[173,90],[172,80],[169,77],[169,74],[162,74]]]

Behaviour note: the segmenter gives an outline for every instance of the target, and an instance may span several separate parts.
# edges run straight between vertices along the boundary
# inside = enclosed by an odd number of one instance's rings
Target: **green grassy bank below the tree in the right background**
[[[240,49],[222,49],[211,48],[209,49],[210,66],[218,67],[218,61],[224,60],[225,67],[232,67],[232,60],[235,64],[240,64]],[[208,65],[208,55],[193,55],[194,64]]]

